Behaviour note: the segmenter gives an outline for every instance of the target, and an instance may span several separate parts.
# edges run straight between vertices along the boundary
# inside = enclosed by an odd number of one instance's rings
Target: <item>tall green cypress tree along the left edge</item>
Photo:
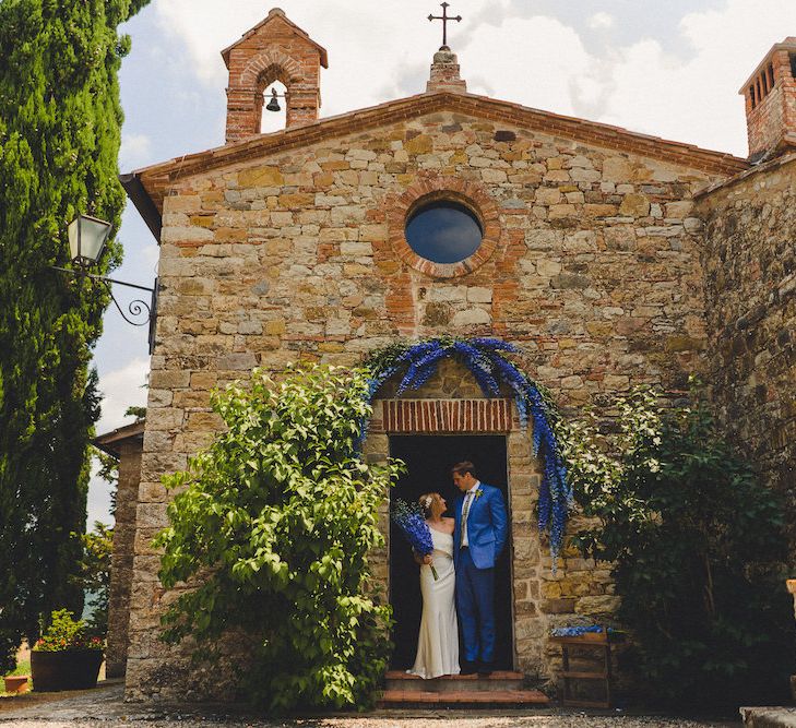
[[[148,0],[0,0],[0,670],[39,616],[82,609],[91,350],[109,302],[71,278],[67,225],[118,228],[120,23]],[[118,265],[110,241],[95,273]]]

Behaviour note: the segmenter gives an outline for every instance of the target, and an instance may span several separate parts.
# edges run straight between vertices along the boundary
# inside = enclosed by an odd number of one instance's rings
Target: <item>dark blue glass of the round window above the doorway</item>
[[[421,205],[406,223],[409,248],[433,263],[459,263],[470,258],[483,238],[473,211],[449,200]]]

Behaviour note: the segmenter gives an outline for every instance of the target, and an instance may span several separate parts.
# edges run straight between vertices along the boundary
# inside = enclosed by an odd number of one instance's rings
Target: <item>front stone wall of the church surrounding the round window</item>
[[[185,663],[156,641],[164,595],[150,542],[166,523],[161,476],[183,468],[221,425],[209,410],[213,387],[257,366],[351,366],[397,336],[440,334],[521,345],[530,374],[571,410],[704,372],[692,195],[715,180],[633,148],[444,111],[175,181],[164,202],[128,697],[185,695]],[[488,244],[466,270],[426,265],[403,239],[411,205],[445,191],[484,223]],[[512,457],[527,452],[525,437],[509,434]],[[518,473],[510,487],[533,491],[531,469],[514,482]],[[514,511],[525,534],[530,508]],[[525,549],[519,536],[516,548]],[[594,564],[567,553],[554,576],[538,547],[527,548],[515,593],[544,616],[534,624],[615,602]],[[522,667],[548,670],[543,628],[518,640]]]

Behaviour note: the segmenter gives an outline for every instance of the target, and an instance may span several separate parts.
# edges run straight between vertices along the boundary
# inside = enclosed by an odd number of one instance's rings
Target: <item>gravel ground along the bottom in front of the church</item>
[[[559,708],[522,713],[472,711],[377,712],[367,716],[266,720],[229,706],[183,706],[166,708],[130,704],[122,700],[123,684],[108,681],[96,690],[73,693],[31,693],[0,700],[0,728],[210,728],[211,726],[259,728],[705,728],[739,726],[739,721],[689,720],[652,715],[579,713]]]

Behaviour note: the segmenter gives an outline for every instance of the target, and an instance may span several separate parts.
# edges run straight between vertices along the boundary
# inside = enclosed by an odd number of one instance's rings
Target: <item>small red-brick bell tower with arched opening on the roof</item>
[[[285,84],[287,127],[318,119],[321,107],[321,65],[326,51],[280,8],[262,23],[222,50],[229,69],[227,87],[227,144],[260,133],[263,91],[274,81]]]

